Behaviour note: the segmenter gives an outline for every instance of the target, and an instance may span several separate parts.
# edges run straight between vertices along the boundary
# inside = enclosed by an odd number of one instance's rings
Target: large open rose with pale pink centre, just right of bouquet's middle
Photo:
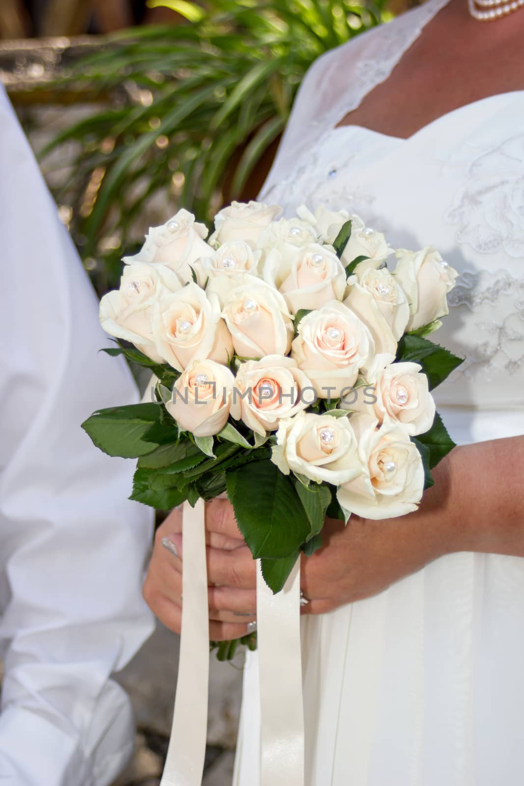
[[[332,300],[299,322],[291,357],[310,377],[321,399],[339,398],[375,352],[371,333],[343,303]]]

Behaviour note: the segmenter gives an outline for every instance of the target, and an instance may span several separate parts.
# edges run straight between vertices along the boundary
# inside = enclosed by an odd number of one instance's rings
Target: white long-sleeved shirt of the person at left
[[[152,517],[133,463],[80,423],[134,402],[97,299],[0,86],[0,714],[2,786],[105,786],[130,754],[115,682],[152,631]]]

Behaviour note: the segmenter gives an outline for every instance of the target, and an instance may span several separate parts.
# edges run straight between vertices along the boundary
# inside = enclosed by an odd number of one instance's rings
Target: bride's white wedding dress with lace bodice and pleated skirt
[[[444,5],[431,0],[313,65],[261,198],[287,215],[345,208],[396,247],[434,244],[460,271],[434,339],[466,359],[435,399],[455,441],[472,443],[524,433],[524,90],[407,140],[335,127]],[[302,670],[306,786],[524,783],[523,559],[445,556],[304,618]],[[258,786],[258,762],[255,653],[235,786]]]

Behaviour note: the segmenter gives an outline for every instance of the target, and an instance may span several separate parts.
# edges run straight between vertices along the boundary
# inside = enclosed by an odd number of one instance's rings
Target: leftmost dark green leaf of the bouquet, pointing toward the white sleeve
[[[137,458],[151,453],[158,443],[148,438],[159,422],[158,404],[130,404],[98,410],[82,423],[93,443],[108,456]]]

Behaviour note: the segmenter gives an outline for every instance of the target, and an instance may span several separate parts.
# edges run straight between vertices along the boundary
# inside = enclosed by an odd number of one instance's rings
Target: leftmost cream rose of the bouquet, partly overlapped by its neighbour
[[[128,265],[120,279],[120,288],[101,299],[101,325],[110,336],[130,341],[148,358],[162,362],[153,339],[153,307],[160,296],[179,289],[180,281],[163,265]]]

